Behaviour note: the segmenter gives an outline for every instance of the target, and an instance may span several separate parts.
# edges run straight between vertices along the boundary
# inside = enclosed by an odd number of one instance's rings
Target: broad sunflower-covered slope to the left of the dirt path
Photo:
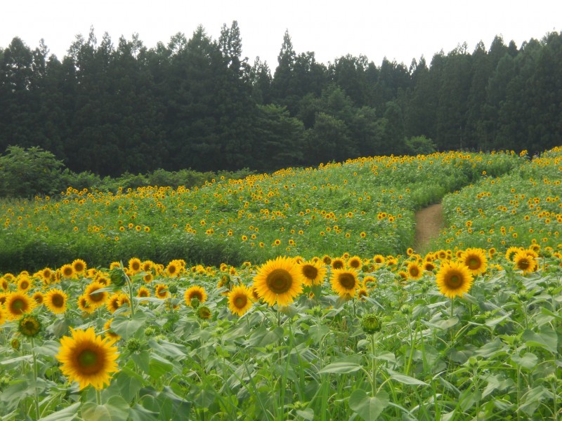
[[[0,269],[131,255],[239,265],[276,255],[403,253],[414,210],[521,162],[512,152],[376,156],[195,189],[69,187],[57,197],[0,203]]]

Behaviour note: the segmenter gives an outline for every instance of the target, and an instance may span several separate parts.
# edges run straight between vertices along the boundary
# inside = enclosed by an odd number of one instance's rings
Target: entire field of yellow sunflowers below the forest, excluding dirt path
[[[2,201],[1,419],[558,420],[561,179],[450,152]]]

